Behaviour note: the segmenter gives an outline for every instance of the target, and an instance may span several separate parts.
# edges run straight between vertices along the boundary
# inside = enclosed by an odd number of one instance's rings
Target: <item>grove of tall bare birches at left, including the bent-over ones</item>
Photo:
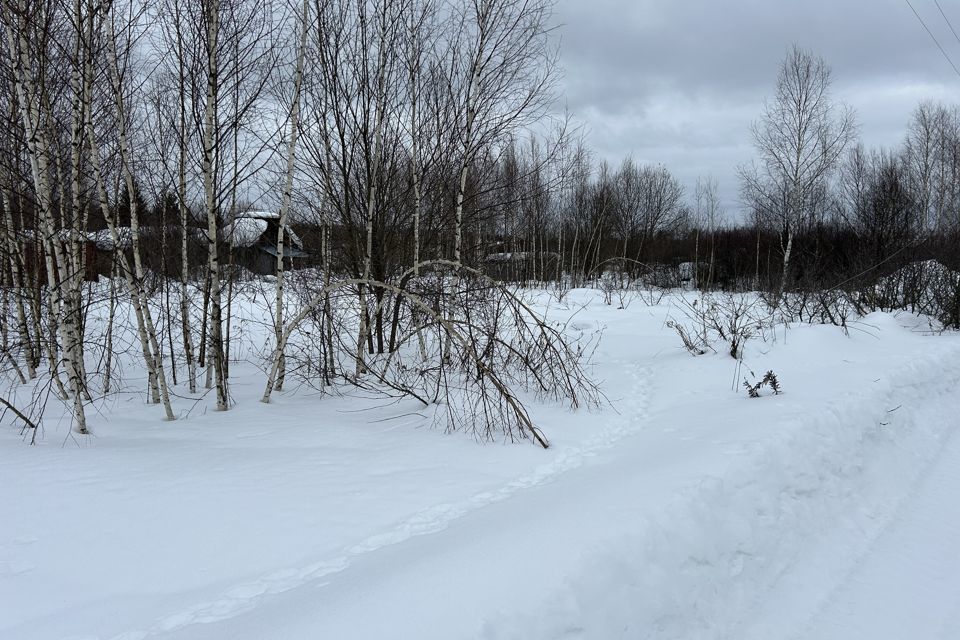
[[[111,385],[114,313],[128,305],[148,401],[174,419],[179,372],[190,393],[205,376],[228,409],[238,270],[224,231],[258,207],[278,220],[264,401],[291,360],[292,373],[325,383],[456,400],[445,403],[449,428],[461,422],[457,406],[482,407],[478,434],[545,446],[514,386],[573,404],[592,387],[562,336],[472,265],[501,158],[544,125],[554,97],[551,9],[3,0],[11,374],[48,378],[86,433],[85,406]],[[295,222],[318,242],[312,277],[291,296],[284,253]],[[109,302],[84,285],[91,232],[114,249]],[[96,385],[92,303],[109,307]],[[307,325],[323,338],[295,344]],[[415,380],[404,360],[414,357]]]

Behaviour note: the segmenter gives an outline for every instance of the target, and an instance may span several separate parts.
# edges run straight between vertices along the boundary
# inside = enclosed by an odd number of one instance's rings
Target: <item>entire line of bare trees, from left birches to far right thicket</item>
[[[829,67],[792,49],[740,171],[749,215],[732,221],[714,179],[688,192],[662,165],[597,162],[555,114],[552,8],[0,0],[8,374],[49,380],[85,433],[129,308],[148,401],[174,419],[171,386],[206,387],[228,409],[244,275],[225,230],[251,208],[277,220],[265,401],[288,373],[376,386],[446,399],[449,428],[484,407],[483,437],[543,445],[514,387],[574,405],[596,389],[581,350],[501,280],[692,263],[700,287],[775,300],[919,259],[957,266],[955,108],[923,103],[902,148],[866,150]],[[285,260],[293,231],[303,277]],[[102,300],[84,283],[91,234],[114,249]],[[109,309],[96,354],[94,303]]]

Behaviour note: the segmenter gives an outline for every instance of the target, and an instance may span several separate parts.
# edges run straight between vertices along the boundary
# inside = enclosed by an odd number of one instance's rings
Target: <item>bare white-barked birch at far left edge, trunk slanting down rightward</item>
[[[69,189],[77,189],[79,158],[71,164],[74,181],[65,180],[58,141],[67,127],[58,122],[58,110],[72,118],[69,141],[74,149],[82,144],[79,113],[80,99],[77,64],[82,48],[81,9],[76,3],[63,11],[56,3],[4,0],[0,6],[6,40],[6,54],[12,75],[13,96],[21,116],[30,163],[33,196],[39,212],[38,247],[44,255],[47,276],[48,316],[51,340],[48,342],[50,375],[63,399],[73,398],[75,429],[87,433],[83,401],[87,394],[83,364],[83,336],[80,286],[83,279],[82,245],[84,217],[78,215],[78,202]],[[72,12],[72,13],[71,13]],[[73,46],[70,46],[72,43]],[[58,44],[66,44],[60,47]],[[62,52],[70,51],[71,56]],[[51,75],[48,68],[65,68],[67,74]],[[66,77],[70,80],[64,82]],[[56,84],[60,81],[59,86]],[[68,96],[69,105],[58,105],[60,96]],[[73,205],[73,206],[71,206]],[[67,373],[69,391],[59,378],[59,363]]]

